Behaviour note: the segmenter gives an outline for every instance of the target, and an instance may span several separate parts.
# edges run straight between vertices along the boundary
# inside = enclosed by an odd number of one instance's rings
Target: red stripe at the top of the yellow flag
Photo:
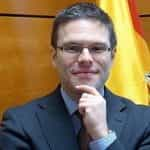
[[[135,0],[128,0],[129,9],[131,12],[132,22],[135,30],[143,36],[143,30],[141,28],[140,18],[138,16],[137,6]]]

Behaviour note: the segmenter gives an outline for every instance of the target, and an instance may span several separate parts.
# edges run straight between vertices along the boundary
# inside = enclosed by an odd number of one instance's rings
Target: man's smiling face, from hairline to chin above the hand
[[[80,46],[83,47],[81,52],[65,51],[65,48],[77,49]],[[57,47],[64,49],[57,48],[53,60],[66,91],[77,85],[104,86],[115,52],[92,51],[102,46],[110,48],[109,33],[98,21],[78,19],[60,26]]]

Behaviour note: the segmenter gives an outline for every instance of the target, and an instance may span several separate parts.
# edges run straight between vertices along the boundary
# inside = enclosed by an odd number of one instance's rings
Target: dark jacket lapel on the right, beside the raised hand
[[[117,137],[120,137],[123,126],[127,119],[127,106],[121,101],[120,97],[112,94],[108,89],[105,90],[105,99],[107,101],[107,119],[108,126],[114,130]]]

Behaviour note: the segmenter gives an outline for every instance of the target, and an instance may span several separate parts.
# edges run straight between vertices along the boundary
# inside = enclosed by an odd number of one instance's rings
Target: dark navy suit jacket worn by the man
[[[105,99],[109,128],[117,134],[108,150],[150,150],[150,109],[106,89]],[[79,150],[59,88],[4,114],[0,150]]]

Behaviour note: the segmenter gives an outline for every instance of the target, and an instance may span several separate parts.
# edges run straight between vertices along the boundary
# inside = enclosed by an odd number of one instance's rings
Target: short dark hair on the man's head
[[[56,48],[58,40],[58,30],[62,24],[77,19],[92,19],[104,24],[109,31],[110,48],[116,47],[117,39],[114,31],[114,25],[111,18],[101,8],[94,3],[81,2],[71,5],[62,10],[55,18],[52,27],[51,45]]]

